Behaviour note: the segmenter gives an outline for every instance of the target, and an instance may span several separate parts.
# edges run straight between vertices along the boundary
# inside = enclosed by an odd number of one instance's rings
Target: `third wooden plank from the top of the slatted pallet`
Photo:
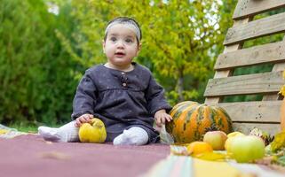
[[[215,70],[285,61],[285,41],[235,50],[218,56]]]

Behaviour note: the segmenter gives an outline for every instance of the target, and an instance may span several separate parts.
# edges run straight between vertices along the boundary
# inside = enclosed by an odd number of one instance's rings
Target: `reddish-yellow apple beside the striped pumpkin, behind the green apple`
[[[213,150],[225,150],[225,142],[227,136],[222,131],[210,131],[207,132],[203,137],[203,142],[210,143]]]

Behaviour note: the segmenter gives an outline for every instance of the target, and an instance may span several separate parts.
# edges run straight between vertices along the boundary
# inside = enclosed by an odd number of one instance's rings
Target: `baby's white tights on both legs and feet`
[[[78,142],[78,127],[71,121],[62,127],[38,127],[38,134],[44,140],[51,142]],[[148,142],[146,130],[141,127],[131,127],[123,130],[123,134],[115,137],[114,145],[144,145]]]

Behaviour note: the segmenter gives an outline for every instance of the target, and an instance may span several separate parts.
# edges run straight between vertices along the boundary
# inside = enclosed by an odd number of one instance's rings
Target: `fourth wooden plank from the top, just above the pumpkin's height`
[[[234,96],[278,92],[283,85],[282,72],[255,73],[208,81],[204,96]]]

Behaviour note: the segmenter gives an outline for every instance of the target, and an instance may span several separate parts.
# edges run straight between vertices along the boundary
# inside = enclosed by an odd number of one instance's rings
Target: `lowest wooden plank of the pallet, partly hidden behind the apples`
[[[260,128],[270,135],[275,135],[281,132],[280,124],[262,124],[262,123],[234,123],[234,131],[242,132],[243,134],[249,135],[250,130],[257,127]]]

